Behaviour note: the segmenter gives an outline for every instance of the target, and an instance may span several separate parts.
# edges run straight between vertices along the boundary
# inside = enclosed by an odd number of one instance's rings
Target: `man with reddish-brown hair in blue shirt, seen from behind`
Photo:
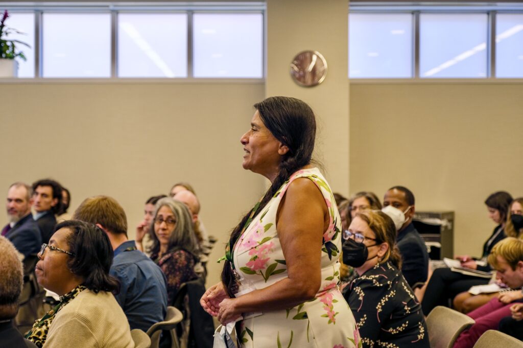
[[[74,219],[96,224],[109,237],[115,258],[109,273],[120,281],[115,295],[132,329],[147,331],[167,313],[165,277],[147,256],[127,239],[127,217],[118,202],[107,196],[85,199]]]

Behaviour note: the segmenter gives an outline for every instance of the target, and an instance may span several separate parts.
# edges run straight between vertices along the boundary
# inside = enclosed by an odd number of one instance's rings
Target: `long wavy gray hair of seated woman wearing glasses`
[[[152,253],[157,254],[160,251],[160,241],[158,241],[156,233],[154,232],[154,220],[158,215],[158,210],[160,210],[162,207],[169,208],[176,218],[176,225],[174,227],[173,233],[170,234],[167,250],[179,247],[188,251],[195,257],[198,257],[199,245],[194,230],[194,225],[192,223],[192,215],[184,203],[174,200],[170,197],[162,198],[156,202],[154,219],[151,222],[150,229],[150,231],[153,232],[151,234],[153,238],[153,246],[151,248]]]

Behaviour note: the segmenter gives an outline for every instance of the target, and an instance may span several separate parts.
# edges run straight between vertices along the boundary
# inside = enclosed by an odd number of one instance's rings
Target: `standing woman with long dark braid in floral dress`
[[[334,197],[311,165],[316,122],[301,100],[254,105],[240,141],[243,168],[270,188],[238,223],[226,248],[222,281],[201,298],[243,347],[358,347],[354,317],[338,289],[342,235]]]

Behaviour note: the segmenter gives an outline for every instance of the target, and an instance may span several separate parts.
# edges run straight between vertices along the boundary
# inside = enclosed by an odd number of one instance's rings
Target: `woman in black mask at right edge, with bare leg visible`
[[[523,236],[523,197],[516,198],[510,203],[509,214],[505,223],[505,234],[507,237],[521,238]],[[491,281],[492,282],[492,281]],[[502,288],[504,284],[499,284]],[[477,307],[483,306],[497,293],[472,295],[464,291],[454,297],[452,306],[461,313],[469,313]]]

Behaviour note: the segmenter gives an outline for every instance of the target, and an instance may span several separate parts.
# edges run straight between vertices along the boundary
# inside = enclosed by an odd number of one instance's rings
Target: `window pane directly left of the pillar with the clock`
[[[261,14],[194,14],[193,28],[195,77],[263,77]]]

